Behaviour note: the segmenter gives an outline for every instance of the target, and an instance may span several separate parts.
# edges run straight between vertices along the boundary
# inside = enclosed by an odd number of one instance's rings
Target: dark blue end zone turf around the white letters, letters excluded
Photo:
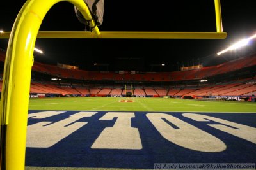
[[[29,111],[37,113],[40,111]],[[58,122],[79,111],[67,111],[42,119],[28,119],[28,125],[38,122]],[[88,122],[60,142],[49,148],[26,148],[26,166],[39,167],[113,167],[152,169],[154,163],[246,163],[256,162],[256,144],[210,127],[218,122],[197,122],[182,113],[164,113],[179,118],[198,129],[212,134],[227,145],[223,152],[198,152],[175,145],[166,140],[146,117],[150,112],[135,112],[132,127],[138,128],[143,148],[141,150],[92,149],[95,139],[113,120],[99,120],[108,111],[99,111],[92,117],[77,122]],[[161,113],[161,112],[159,112]],[[256,127],[255,113],[196,113],[221,118],[230,122]],[[172,124],[170,124],[172,126]],[[173,127],[173,126],[172,126]],[[175,128],[175,127],[173,127]],[[176,127],[177,128],[177,127]]]

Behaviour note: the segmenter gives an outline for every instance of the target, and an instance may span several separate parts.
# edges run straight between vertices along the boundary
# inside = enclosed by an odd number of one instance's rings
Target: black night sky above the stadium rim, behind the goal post
[[[0,29],[11,31],[13,22],[25,1],[4,1],[0,10]],[[240,39],[256,33],[255,0],[222,0],[223,31],[220,39],[37,39],[36,47],[44,55],[35,60],[47,64],[74,64],[81,69],[118,71],[177,71],[178,67],[204,66],[235,59],[256,52],[252,45],[216,57],[216,53]],[[104,22],[100,31],[202,31],[215,32],[214,0],[105,1]],[[40,31],[83,31],[67,2],[54,5],[47,13]],[[7,39],[0,39],[6,49]],[[95,67],[93,63],[109,64]],[[164,67],[152,64],[166,64]]]

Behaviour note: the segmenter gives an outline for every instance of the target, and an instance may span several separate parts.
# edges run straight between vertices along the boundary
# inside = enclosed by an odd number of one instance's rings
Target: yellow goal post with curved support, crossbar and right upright
[[[93,32],[38,32],[46,13],[60,1],[63,0],[26,1],[17,15],[12,31],[0,33],[0,38],[9,38],[0,105],[1,169],[24,169],[29,88],[36,38],[225,39],[227,37],[227,33],[222,29],[220,0],[214,0],[216,32],[100,32],[83,0],[66,1],[74,4],[86,20],[91,20]]]

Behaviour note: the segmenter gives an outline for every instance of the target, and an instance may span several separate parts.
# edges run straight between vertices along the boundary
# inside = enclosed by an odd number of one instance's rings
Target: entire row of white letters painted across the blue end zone
[[[66,111],[42,111],[29,114],[31,119],[48,118],[60,115]],[[98,112],[80,111],[58,122],[39,122],[28,126],[27,146],[31,148],[48,148],[72,132],[77,131],[88,122],[76,122],[83,117],[92,117]],[[196,122],[214,121],[217,124],[208,124],[233,136],[256,143],[256,128],[237,124],[221,118],[210,117],[202,114],[183,113],[183,117]],[[211,134],[166,113],[147,113],[146,117],[156,130],[168,141],[176,145],[200,152],[221,152],[226,149],[225,143]],[[106,112],[99,120],[113,120],[117,118],[113,127],[106,127],[95,139],[91,148],[104,149],[142,149],[138,128],[131,127],[134,112]],[[170,122],[168,124],[167,122]],[[220,123],[220,124],[218,124]]]

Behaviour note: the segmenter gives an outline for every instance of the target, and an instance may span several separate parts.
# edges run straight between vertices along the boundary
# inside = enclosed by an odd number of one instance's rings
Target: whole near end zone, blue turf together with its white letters
[[[26,166],[256,162],[256,114],[29,111]]]

